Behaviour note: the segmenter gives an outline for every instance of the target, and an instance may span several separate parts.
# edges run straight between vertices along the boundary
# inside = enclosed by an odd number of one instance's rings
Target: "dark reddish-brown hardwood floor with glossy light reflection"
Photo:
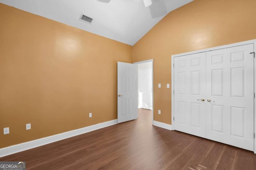
[[[26,161],[27,170],[255,170],[256,154],[137,120],[0,158]]]

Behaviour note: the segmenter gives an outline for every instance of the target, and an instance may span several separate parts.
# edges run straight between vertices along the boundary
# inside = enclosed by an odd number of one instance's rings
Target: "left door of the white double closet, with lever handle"
[[[174,129],[206,137],[206,53],[174,58]]]

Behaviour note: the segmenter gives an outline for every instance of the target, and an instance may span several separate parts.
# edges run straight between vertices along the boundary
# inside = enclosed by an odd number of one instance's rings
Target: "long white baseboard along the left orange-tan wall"
[[[60,141],[60,140],[63,140],[63,139],[74,137],[74,136],[77,136],[77,135],[81,135],[83,133],[87,133],[87,132],[90,132],[90,131],[94,131],[94,130],[101,129],[103,127],[108,127],[108,126],[115,125],[115,124],[117,124],[117,119],[111,120],[111,121],[106,121],[106,122],[103,122],[103,123],[98,123],[96,125],[83,127],[83,128],[76,129],[76,130],[73,130],[73,131],[60,133],[60,134],[57,134],[57,135],[52,135],[52,136],[49,136],[49,137],[44,137],[44,138],[41,138],[41,139],[36,139],[34,141],[28,141],[28,142],[20,143],[20,144],[17,144],[17,145],[12,145],[10,147],[5,147],[5,148],[0,149],[0,157],[7,156],[7,155],[10,155],[10,154],[14,154],[14,153],[17,153],[17,152],[21,152],[21,151],[24,151],[24,150],[32,149],[32,148],[35,148],[35,147],[40,147],[42,145],[46,145],[46,144],[49,144],[49,143],[53,143],[53,142],[56,142],[56,141]]]

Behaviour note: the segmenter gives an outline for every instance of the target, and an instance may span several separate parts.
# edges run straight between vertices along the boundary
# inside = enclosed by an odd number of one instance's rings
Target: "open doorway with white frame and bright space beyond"
[[[151,110],[153,124],[153,59],[134,64],[137,65],[138,70],[138,109]]]

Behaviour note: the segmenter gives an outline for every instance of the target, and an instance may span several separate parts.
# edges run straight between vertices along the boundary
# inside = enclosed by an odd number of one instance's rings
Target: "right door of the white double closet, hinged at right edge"
[[[254,150],[253,51],[249,44],[206,52],[206,138],[247,150]]]

